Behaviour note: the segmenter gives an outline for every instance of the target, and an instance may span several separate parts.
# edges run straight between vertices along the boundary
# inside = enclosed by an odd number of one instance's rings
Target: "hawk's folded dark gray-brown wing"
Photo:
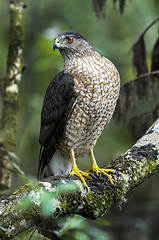
[[[60,143],[76,97],[74,77],[64,71],[60,72],[47,88],[41,112],[39,177]]]

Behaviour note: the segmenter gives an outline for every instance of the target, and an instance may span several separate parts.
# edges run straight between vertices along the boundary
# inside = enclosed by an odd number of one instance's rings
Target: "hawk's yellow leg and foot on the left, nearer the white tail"
[[[78,177],[81,179],[81,181],[83,182],[84,187],[86,187],[87,184],[86,184],[86,181],[85,181],[85,179],[84,179],[83,176],[85,176],[85,177],[87,177],[87,178],[89,178],[90,176],[89,176],[88,173],[81,171],[81,170],[77,167],[76,159],[75,159],[75,155],[74,155],[73,149],[70,150],[70,158],[71,158],[71,163],[72,163],[72,171],[70,172],[70,175],[71,175],[71,176],[73,176],[73,175],[78,176]]]

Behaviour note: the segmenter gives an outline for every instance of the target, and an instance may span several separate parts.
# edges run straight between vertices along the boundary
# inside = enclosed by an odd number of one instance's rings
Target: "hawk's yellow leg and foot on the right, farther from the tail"
[[[93,154],[93,150],[89,150],[89,155],[91,157],[91,169],[86,171],[87,173],[89,172],[95,172],[97,176],[99,176],[99,173],[102,173],[103,175],[106,175],[110,181],[110,183],[113,185],[113,180],[111,179],[111,176],[108,174],[109,172],[110,173],[115,173],[115,171],[113,169],[109,169],[109,168],[99,168],[97,163],[96,163],[96,160],[95,160],[95,157],[94,157],[94,154]]]

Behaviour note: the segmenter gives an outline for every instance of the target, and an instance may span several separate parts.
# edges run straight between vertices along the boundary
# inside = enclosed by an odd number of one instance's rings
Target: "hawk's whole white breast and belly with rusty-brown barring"
[[[74,76],[77,101],[66,123],[59,151],[68,155],[74,149],[82,156],[96,144],[109,123],[118,99],[120,77],[114,64],[95,51],[94,55],[74,58],[65,66]]]

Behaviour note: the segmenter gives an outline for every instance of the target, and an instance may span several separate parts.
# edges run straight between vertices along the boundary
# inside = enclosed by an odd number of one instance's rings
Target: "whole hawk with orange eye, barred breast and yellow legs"
[[[53,49],[63,57],[64,71],[49,84],[41,112],[38,173],[83,176],[93,171],[108,176],[112,169],[97,166],[93,148],[108,125],[119,96],[120,77],[114,64],[80,34],[57,35]],[[89,152],[91,169],[79,170],[75,158]]]

